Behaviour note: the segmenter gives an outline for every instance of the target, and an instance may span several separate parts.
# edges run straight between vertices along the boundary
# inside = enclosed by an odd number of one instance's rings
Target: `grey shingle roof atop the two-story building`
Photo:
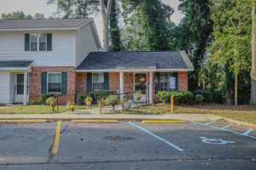
[[[0,29],[78,27],[88,20],[91,19],[0,20]]]

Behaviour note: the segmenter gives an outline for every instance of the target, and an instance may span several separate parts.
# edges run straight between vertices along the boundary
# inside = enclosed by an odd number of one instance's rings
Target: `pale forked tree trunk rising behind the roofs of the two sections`
[[[108,23],[109,23],[109,14],[111,9],[112,0],[108,0],[107,8],[105,7],[104,0],[100,0],[101,5],[101,13],[102,13],[102,21],[103,21],[103,52],[109,51],[109,31],[108,31]]]

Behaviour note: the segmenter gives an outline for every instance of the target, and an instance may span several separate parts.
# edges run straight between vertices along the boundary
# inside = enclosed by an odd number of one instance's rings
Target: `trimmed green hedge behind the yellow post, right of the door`
[[[191,92],[184,92],[184,91],[160,91],[156,94],[156,97],[162,103],[171,103],[171,95],[174,96],[174,103],[175,104],[191,104],[193,101],[193,94]]]

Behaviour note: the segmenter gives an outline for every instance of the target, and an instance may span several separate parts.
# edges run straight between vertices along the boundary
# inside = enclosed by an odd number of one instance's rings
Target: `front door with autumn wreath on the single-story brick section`
[[[144,103],[147,101],[148,83],[147,83],[147,74],[146,73],[135,73],[134,74],[134,91],[142,92],[142,97],[140,100],[137,101],[137,99],[134,97],[135,102],[143,102]]]

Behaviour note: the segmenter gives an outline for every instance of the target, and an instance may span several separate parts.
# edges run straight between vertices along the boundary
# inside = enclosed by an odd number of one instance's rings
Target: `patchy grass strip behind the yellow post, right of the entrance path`
[[[256,107],[252,105],[178,105],[174,107],[176,114],[213,114],[224,116],[241,122],[256,124]],[[170,106],[155,105],[131,108],[124,114],[170,114]]]

